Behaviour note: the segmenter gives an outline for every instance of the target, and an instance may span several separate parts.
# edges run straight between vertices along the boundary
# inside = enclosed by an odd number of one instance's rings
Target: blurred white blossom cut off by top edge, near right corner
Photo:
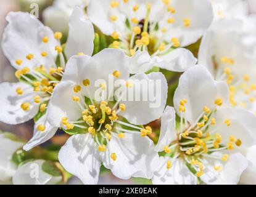
[[[248,3],[244,0],[210,0],[212,2],[214,19],[241,19],[249,15]]]

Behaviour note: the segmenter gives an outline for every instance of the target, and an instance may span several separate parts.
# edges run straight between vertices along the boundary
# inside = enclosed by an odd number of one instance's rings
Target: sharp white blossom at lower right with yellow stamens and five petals
[[[181,76],[175,107],[165,108],[162,116],[156,145],[162,157],[154,184],[239,182],[248,166],[244,151],[256,142],[256,121],[252,113],[227,103],[228,86],[214,81],[205,66],[194,66]],[[175,125],[176,114],[180,126]]]

